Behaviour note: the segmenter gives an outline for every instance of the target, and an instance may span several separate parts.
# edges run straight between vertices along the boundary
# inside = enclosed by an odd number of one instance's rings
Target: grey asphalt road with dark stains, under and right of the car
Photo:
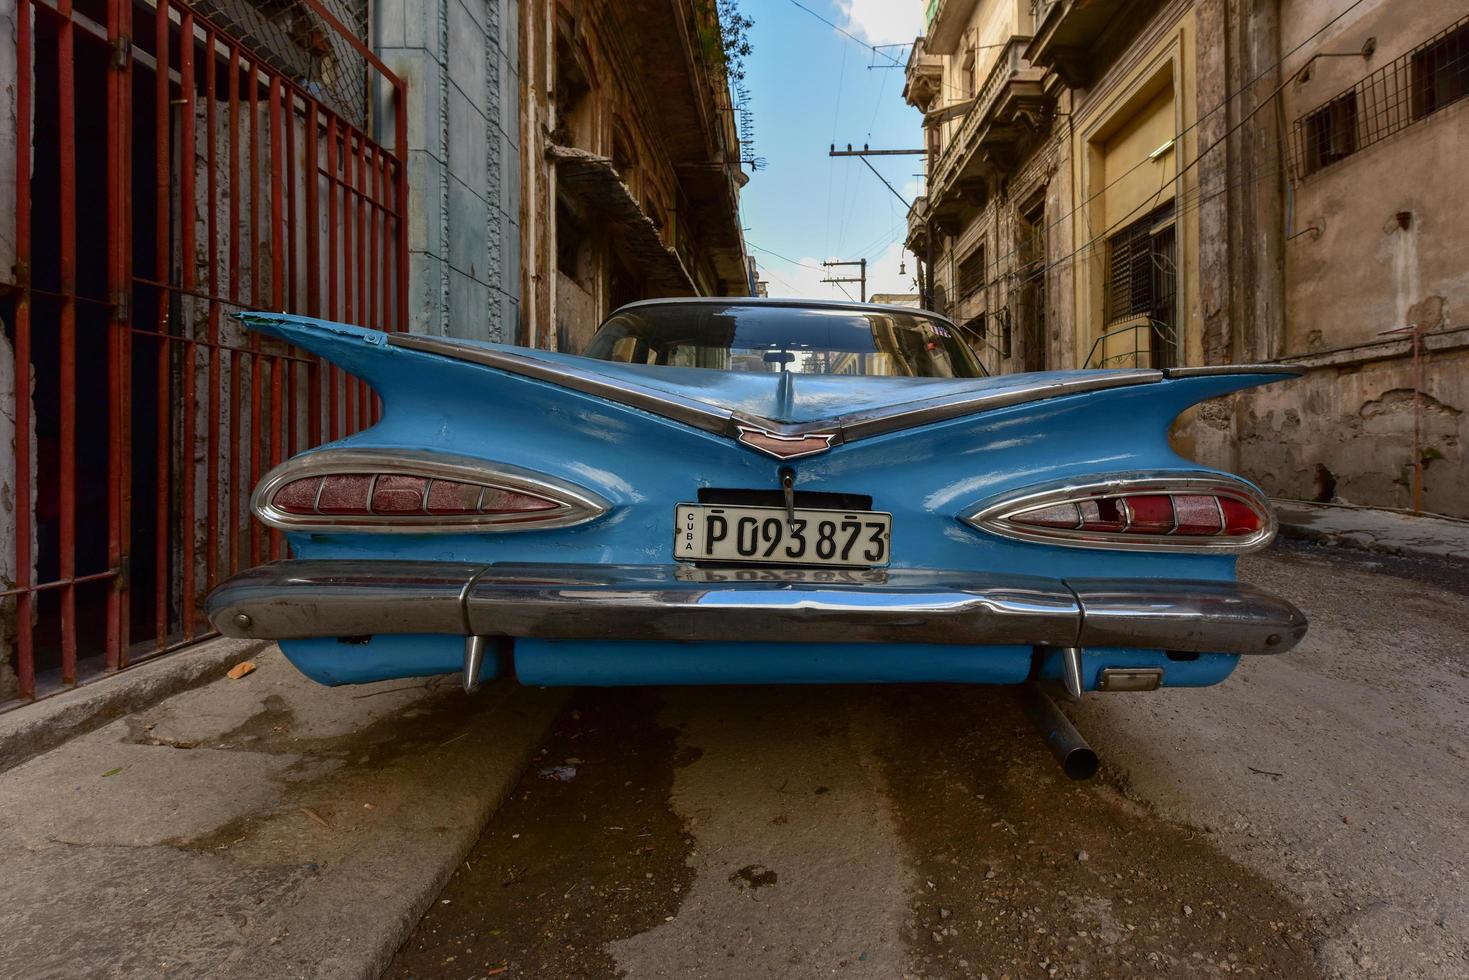
[[[1090,695],[583,691],[389,977],[1469,976],[1469,574],[1288,547],[1309,639]]]

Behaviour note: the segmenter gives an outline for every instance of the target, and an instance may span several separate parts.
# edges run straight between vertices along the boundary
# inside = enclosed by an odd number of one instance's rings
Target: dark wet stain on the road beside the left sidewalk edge
[[[383,976],[620,976],[607,945],[671,918],[693,880],[657,718],[652,689],[580,692]]]

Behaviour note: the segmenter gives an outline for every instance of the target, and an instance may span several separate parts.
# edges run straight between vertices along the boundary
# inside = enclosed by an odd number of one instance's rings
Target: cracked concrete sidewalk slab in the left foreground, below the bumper
[[[0,976],[378,977],[564,699],[256,663],[0,774]]]

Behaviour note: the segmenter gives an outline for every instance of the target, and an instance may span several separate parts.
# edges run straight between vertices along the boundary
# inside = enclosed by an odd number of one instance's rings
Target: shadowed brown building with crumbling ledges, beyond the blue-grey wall
[[[715,6],[527,3],[520,342],[576,353],[607,313],[751,292]]]

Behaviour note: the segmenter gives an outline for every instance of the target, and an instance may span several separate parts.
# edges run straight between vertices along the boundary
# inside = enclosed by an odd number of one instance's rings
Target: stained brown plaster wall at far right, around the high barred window
[[[1281,48],[1296,47],[1347,6],[1281,3]],[[1350,10],[1287,62],[1294,81],[1281,93],[1285,132],[1463,15],[1460,0],[1368,0]],[[1371,54],[1351,54],[1369,38]],[[1294,75],[1316,53],[1334,56]],[[1404,76],[1412,78],[1412,66]],[[1381,98],[1369,94],[1357,106],[1360,126],[1384,112],[1407,112]],[[1238,464],[1269,492],[1412,505],[1415,370],[1401,331],[1418,329],[1426,351],[1423,508],[1469,517],[1466,148],[1469,100],[1460,100],[1315,173],[1291,170],[1284,335],[1243,350],[1310,370],[1240,395],[1234,407]]]

